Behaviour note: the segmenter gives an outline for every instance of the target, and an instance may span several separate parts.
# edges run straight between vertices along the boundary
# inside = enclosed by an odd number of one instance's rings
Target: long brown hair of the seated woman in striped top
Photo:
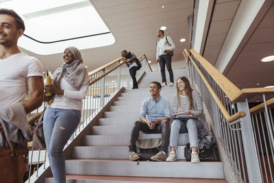
[[[178,79],[176,80],[176,88],[177,88],[177,101],[178,101],[178,106],[181,107],[181,103],[179,100],[179,95],[180,95],[180,90],[178,88],[178,80],[181,80],[182,82],[184,82],[184,90],[186,92],[186,96],[188,96],[188,110],[191,110],[194,105],[193,105],[193,99],[192,99],[192,88],[190,86],[190,83],[188,81],[188,78],[182,76],[182,77],[178,77]]]

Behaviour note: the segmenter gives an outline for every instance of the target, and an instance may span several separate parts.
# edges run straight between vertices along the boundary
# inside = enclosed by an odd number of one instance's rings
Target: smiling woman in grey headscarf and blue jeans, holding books
[[[47,92],[55,93],[53,102],[45,111],[44,134],[49,164],[56,183],[66,182],[63,149],[80,122],[82,99],[86,97],[90,82],[77,48],[66,48],[63,60],[62,66],[53,73],[54,84],[45,86]]]

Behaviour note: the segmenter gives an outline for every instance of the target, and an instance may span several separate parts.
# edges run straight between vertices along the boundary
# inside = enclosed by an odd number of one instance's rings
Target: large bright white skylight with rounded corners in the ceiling
[[[14,10],[25,21],[18,45],[34,53],[62,53],[68,46],[90,49],[115,42],[88,0],[12,0],[0,6]]]

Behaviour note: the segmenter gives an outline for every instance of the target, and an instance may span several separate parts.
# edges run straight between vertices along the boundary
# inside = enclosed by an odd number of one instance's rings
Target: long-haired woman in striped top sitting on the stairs
[[[195,119],[188,119],[182,121],[176,119],[171,125],[171,138],[170,147],[171,153],[166,161],[176,160],[176,147],[179,137],[179,130],[183,123],[186,123],[188,129],[188,136],[190,141],[190,148],[192,149],[191,162],[200,162],[198,156],[198,129],[203,128],[203,123],[201,121],[201,114],[203,114],[203,101],[201,95],[197,90],[193,90],[189,84],[186,77],[179,77],[177,79],[177,93],[173,95],[172,98],[172,108],[173,113],[187,112],[186,115],[193,115],[197,117]]]

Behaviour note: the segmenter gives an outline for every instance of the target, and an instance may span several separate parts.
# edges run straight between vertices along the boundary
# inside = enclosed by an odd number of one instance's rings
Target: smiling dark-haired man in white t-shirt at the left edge
[[[16,12],[0,9],[0,109],[21,102],[27,114],[41,106],[44,84],[40,61],[18,49],[24,30]],[[25,101],[27,91],[31,97]]]

